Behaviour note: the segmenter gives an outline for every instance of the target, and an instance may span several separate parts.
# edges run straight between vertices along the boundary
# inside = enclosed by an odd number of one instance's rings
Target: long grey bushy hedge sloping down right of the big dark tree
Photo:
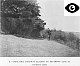
[[[65,32],[61,30],[44,30],[43,36],[44,38],[46,37],[47,39],[50,32],[50,40],[56,41],[58,43],[61,43],[63,45],[66,45],[72,49],[79,50],[80,48],[80,33],[74,33],[74,32]]]

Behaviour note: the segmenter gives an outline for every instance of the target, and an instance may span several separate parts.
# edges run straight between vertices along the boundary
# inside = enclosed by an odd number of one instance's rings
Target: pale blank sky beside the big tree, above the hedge
[[[37,0],[45,28],[80,32],[80,16],[64,16],[64,0]]]

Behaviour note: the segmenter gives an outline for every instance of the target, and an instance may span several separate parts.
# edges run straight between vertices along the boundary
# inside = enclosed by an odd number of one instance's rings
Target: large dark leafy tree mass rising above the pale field
[[[40,6],[31,4],[25,0],[1,1],[2,30],[10,34],[38,35],[44,29],[44,21],[41,16]],[[36,34],[35,34],[36,35]]]

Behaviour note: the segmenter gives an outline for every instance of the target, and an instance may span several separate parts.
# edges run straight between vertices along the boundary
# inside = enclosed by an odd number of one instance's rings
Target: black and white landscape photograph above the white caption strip
[[[80,5],[64,0],[1,0],[0,57],[80,57]]]

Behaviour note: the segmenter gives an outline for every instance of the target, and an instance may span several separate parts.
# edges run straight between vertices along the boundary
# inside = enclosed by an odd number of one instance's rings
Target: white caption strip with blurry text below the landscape
[[[79,66],[79,65],[80,57],[4,57],[4,58],[0,57],[0,66]]]

